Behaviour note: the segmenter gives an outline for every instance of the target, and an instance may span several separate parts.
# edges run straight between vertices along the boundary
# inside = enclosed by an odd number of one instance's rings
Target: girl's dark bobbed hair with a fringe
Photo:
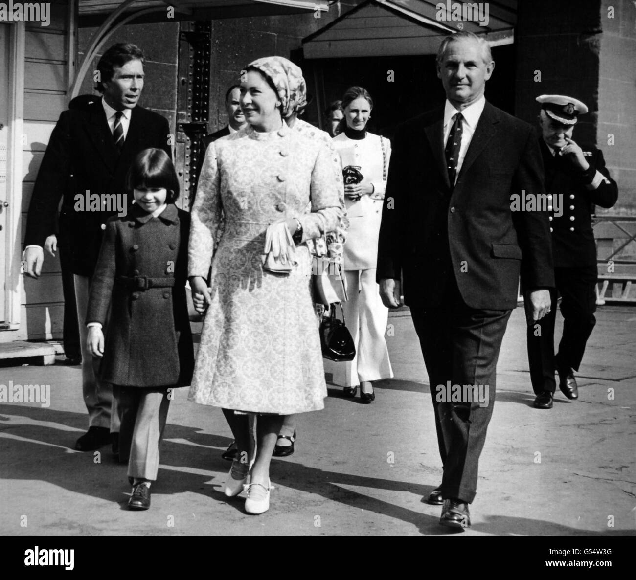
[[[130,193],[144,188],[165,188],[167,204],[179,197],[179,180],[170,156],[163,149],[144,149],[137,154],[128,169],[126,187]]]

